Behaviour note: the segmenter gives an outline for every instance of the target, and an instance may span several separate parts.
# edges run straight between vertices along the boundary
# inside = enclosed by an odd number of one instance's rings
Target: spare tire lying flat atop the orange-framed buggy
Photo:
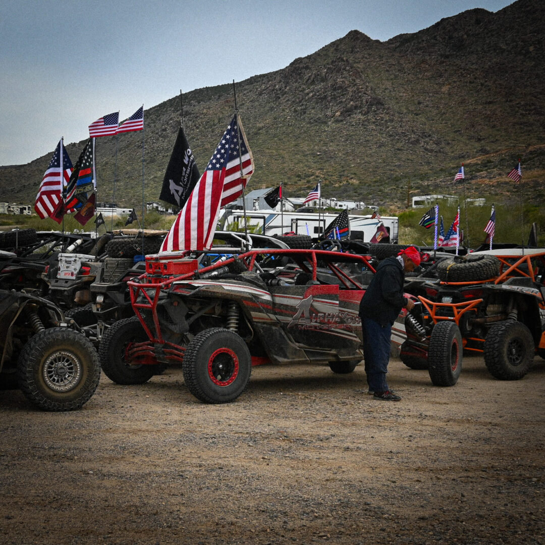
[[[447,257],[437,264],[437,275],[443,282],[489,280],[499,274],[500,260],[486,254]]]

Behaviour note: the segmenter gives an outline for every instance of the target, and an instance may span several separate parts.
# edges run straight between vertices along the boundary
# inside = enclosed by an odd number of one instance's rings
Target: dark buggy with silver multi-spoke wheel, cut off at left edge
[[[0,251],[0,263],[15,257]],[[0,289],[0,320],[3,387],[19,386],[44,410],[77,409],[89,400],[99,384],[98,355],[57,305],[25,290]]]

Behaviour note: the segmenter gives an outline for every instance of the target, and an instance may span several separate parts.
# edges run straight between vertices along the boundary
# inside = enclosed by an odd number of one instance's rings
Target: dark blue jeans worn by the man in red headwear
[[[367,384],[373,392],[389,390],[386,383],[388,361],[390,360],[390,337],[392,326],[380,325],[371,318],[361,319],[364,338],[364,360]]]

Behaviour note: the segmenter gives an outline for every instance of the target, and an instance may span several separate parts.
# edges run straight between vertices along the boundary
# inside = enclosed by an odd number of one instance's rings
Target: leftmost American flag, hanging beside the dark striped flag
[[[72,161],[70,161],[61,138],[57,144],[57,149],[53,153],[49,167],[47,167],[44,177],[41,180],[40,189],[38,190],[34,204],[34,210],[36,210],[41,219],[52,217],[58,223],[62,221],[62,214],[58,217],[57,215],[53,215],[53,213],[60,201],[62,201],[63,188],[68,183],[71,173]]]

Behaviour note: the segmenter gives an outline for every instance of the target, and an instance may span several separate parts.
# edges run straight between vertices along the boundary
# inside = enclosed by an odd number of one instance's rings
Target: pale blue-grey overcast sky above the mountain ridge
[[[351,30],[385,41],[511,0],[0,0],[0,165],[179,94],[287,66]],[[144,122],[145,122],[144,113]],[[77,157],[71,158],[75,162]]]

